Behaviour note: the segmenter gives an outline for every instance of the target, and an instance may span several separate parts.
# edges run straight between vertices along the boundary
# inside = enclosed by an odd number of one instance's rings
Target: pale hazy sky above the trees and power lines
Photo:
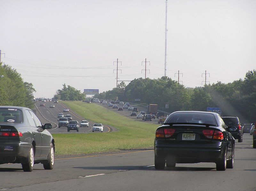
[[[185,87],[256,69],[255,0],[168,0],[166,76]],[[0,0],[1,62],[52,98],[164,76],[165,0]],[[143,63],[144,61],[144,63]],[[122,64],[122,65],[121,65]],[[121,73],[122,72],[122,73]],[[209,82],[208,82],[209,81]],[[125,82],[128,84],[129,82]]]

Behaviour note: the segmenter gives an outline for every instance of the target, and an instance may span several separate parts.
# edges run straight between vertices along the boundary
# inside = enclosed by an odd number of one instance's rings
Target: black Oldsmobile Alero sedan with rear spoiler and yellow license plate
[[[224,171],[234,167],[235,139],[220,115],[212,112],[179,111],[170,114],[156,129],[155,168],[176,163],[216,163]]]

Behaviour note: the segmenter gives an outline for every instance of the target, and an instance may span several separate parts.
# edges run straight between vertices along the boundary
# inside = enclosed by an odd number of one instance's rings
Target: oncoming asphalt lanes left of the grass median
[[[41,102],[37,101],[35,102],[36,105],[36,115],[39,117],[39,119],[42,121],[42,123],[52,123],[52,129],[49,131],[54,133],[62,133],[62,134],[69,134],[69,133],[91,133],[92,132],[92,126],[94,124],[93,121],[88,120],[89,127],[80,127],[79,132],[76,132],[75,130],[67,131],[67,127],[58,127],[58,113],[63,113],[64,115],[70,114],[72,116],[72,120],[76,120],[79,123],[81,120],[84,120],[83,117],[76,114],[74,111],[69,109],[69,112],[63,112],[63,109],[66,108],[61,103],[53,103],[53,102],[44,102],[45,106],[40,106]],[[50,108],[50,105],[54,104],[54,108]],[[96,121],[97,123],[100,123],[100,121]],[[103,124],[103,132],[112,132],[117,131],[116,128],[110,127],[108,125]],[[100,133],[100,132],[94,132],[94,133]]]

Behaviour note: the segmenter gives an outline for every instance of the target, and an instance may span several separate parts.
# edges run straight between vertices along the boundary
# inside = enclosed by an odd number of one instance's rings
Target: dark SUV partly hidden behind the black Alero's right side
[[[223,119],[223,121],[225,122],[225,124],[228,127],[230,127],[230,126],[236,127],[236,131],[230,132],[230,133],[232,134],[232,136],[235,139],[238,139],[239,143],[243,142],[243,129],[242,129],[239,118],[238,117],[226,117],[226,116],[223,116],[221,118]]]

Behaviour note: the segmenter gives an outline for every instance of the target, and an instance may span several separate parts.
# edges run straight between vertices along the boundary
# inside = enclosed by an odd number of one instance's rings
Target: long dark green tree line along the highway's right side
[[[157,104],[158,109],[172,113],[180,110],[206,111],[220,107],[222,115],[238,116],[243,123],[256,121],[256,70],[248,71],[244,79],[232,83],[217,82],[204,87],[186,88],[169,77],[137,78],[127,86],[94,95],[99,99],[120,99],[144,105]],[[169,108],[165,108],[168,104]]]

